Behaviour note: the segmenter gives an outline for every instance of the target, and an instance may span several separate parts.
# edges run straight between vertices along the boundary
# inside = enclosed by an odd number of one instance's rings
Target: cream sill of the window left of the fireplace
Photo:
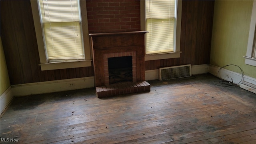
[[[41,66],[41,70],[59,70],[65,68],[80,68],[92,66],[92,60],[80,60],[71,62],[49,62],[39,65]]]

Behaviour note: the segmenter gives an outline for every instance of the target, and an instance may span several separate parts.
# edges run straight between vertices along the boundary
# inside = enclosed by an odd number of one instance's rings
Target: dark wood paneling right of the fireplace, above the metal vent
[[[214,1],[182,1],[180,58],[146,61],[146,70],[210,63]]]

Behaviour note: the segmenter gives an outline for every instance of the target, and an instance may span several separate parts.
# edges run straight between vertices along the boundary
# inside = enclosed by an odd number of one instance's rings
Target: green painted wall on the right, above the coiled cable
[[[246,76],[256,78],[256,67],[245,64],[252,15],[252,0],[216,0],[212,28],[210,64],[218,67],[235,64]],[[241,73],[236,66],[226,69]]]

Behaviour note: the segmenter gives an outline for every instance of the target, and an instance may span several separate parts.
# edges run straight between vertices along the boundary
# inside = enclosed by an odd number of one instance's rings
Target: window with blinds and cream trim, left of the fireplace
[[[86,2],[81,3],[83,12],[78,0],[31,0],[42,70],[91,66]]]

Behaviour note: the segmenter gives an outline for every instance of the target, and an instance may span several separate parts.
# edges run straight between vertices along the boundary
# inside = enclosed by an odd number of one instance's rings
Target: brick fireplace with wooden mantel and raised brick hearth
[[[145,46],[144,34],[146,31],[114,32],[89,34],[91,38],[92,55],[94,63],[94,82],[98,98],[119,94],[150,91],[150,84],[145,81]],[[124,77],[123,75],[110,74],[109,62],[111,58],[124,59],[131,57],[130,78],[124,78],[112,83],[112,77]],[[124,60],[127,63],[127,59]],[[116,59],[116,64],[120,63]],[[121,62],[122,63],[122,62]]]

